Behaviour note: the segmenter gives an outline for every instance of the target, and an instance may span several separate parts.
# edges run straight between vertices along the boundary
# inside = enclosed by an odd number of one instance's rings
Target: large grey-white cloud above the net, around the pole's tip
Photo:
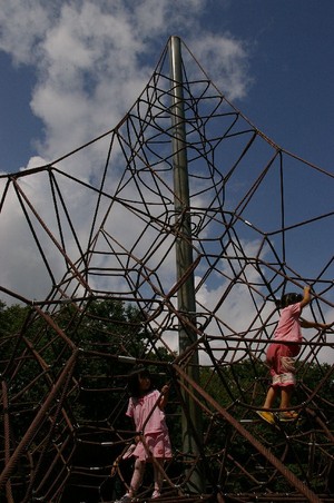
[[[115,126],[175,32],[185,36],[224,92],[242,97],[249,82],[244,43],[200,26],[205,0],[3,0],[0,6],[0,49],[36,70],[31,110],[43,122],[38,154],[46,158]]]

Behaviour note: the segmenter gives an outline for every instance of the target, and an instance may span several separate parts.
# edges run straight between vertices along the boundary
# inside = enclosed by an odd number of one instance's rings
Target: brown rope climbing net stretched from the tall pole
[[[275,299],[312,285],[305,317],[333,320],[333,174],[268,139],[184,43],[181,62],[188,207],[174,189],[168,45],[117,127],[1,176],[1,500],[124,494],[126,376],[141,363],[170,383],[161,501],[333,501],[333,331],[304,332],[299,420],[255,414]],[[177,277],[180,241],[193,257]],[[189,280],[194,313],[177,302]],[[150,493],[148,467],[138,499]]]

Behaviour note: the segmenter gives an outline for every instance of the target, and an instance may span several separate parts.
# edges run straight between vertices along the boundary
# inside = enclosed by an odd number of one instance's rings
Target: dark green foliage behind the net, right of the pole
[[[328,378],[332,367],[328,364],[303,363],[299,367],[303,372],[298,374],[292,402],[296,406],[303,404],[302,418],[297,424],[285,423],[281,427],[258,421],[254,413],[255,407],[263,404],[271,383],[268,371],[262,362],[247,359],[234,365],[205,367],[200,373],[200,385],[292,473],[316,493],[325,493],[326,477],[322,474],[330,469],[331,460],[315,446],[324,445],[325,451],[331,451],[331,441],[318,427],[316,418],[322,417],[322,408],[327,417],[333,417],[330,408],[333,407],[334,386],[333,379]],[[313,393],[315,388],[316,396]],[[224,486],[226,494],[256,494],[264,490],[264,483],[271,492],[289,492],[285,477],[274,471],[246,437],[239,435],[222,415],[216,414],[210,403],[207,406],[212,414],[204,415],[206,454],[212,456],[214,479]],[[278,403],[276,406],[278,407]],[[311,438],[310,432],[314,432]],[[225,453],[228,453],[226,457]]]

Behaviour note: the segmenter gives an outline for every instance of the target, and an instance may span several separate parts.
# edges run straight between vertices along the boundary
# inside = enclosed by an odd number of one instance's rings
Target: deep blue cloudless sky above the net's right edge
[[[333,19],[326,0],[237,0],[212,18],[250,46],[254,82],[238,108],[278,145],[331,170]]]

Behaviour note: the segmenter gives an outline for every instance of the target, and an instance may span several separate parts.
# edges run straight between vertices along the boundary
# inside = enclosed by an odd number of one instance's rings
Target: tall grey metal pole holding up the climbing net
[[[178,233],[176,239],[176,274],[179,288],[177,292],[177,308],[180,313],[179,322],[179,352],[183,354],[197,341],[194,329],[196,324],[196,300],[194,272],[189,274],[193,265],[191,246],[191,218],[189,179],[187,166],[187,144],[185,126],[185,108],[183,91],[183,69],[180,39],[171,37],[169,41],[170,78],[171,78],[171,126],[173,126],[173,168],[174,168],[174,191],[175,191],[175,225]],[[181,323],[185,320],[185,323]],[[185,372],[199,383],[198,352],[194,352]],[[194,389],[190,389],[195,393]],[[183,451],[189,456],[189,483],[191,492],[203,493],[205,481],[200,469],[200,463],[196,462],[195,470],[191,462],[199,455],[198,440],[203,441],[203,418],[200,407],[195,403],[189,393],[183,392],[184,408],[181,413],[181,435]],[[196,438],[194,437],[196,432]]]

